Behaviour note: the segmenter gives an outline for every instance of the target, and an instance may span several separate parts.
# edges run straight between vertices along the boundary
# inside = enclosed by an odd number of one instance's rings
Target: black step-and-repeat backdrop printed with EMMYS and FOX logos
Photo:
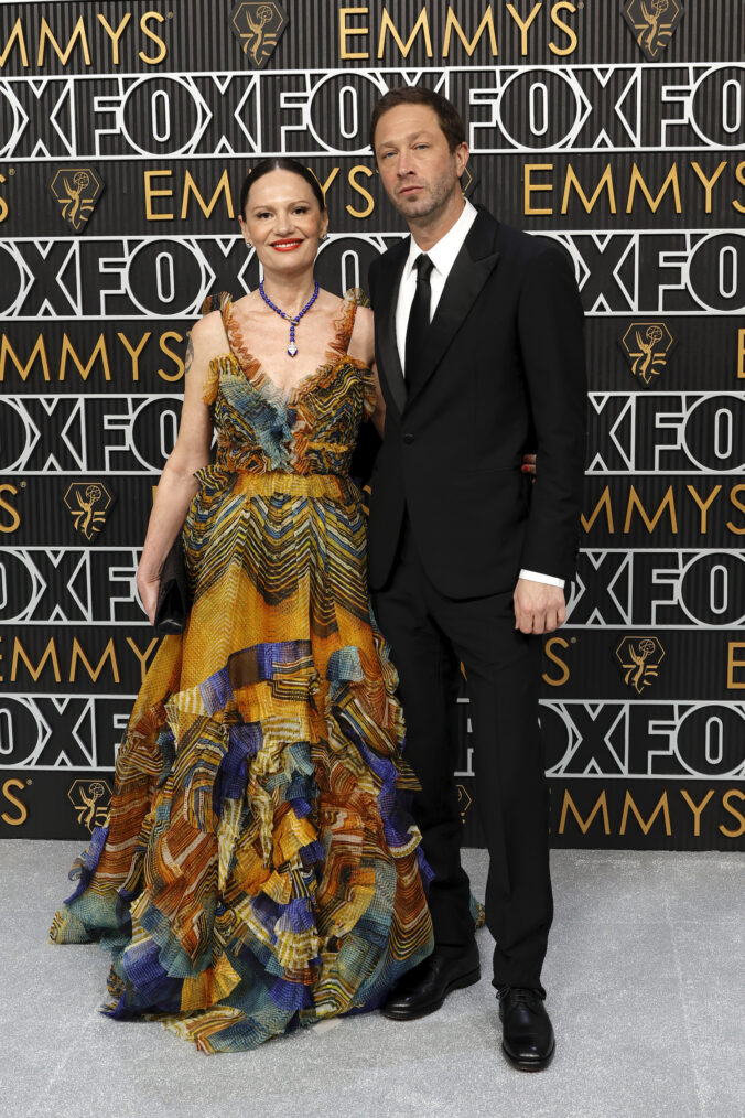
[[[0,834],[85,839],[156,638],[135,569],[204,296],[258,266],[251,158],[326,191],[327,287],[402,236],[367,146],[424,84],[467,195],[560,243],[590,449],[545,641],[552,842],[745,845],[741,0],[134,0],[0,9]],[[539,466],[538,466],[539,468]],[[478,757],[456,711],[465,839]]]

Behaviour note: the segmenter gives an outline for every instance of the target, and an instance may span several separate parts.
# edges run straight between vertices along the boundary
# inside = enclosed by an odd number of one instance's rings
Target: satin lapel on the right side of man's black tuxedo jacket
[[[411,404],[426,387],[470,312],[481,287],[497,266],[499,253],[495,249],[495,243],[498,229],[498,222],[489,214],[479,211],[456,257],[437,304],[424,343],[417,389],[410,394],[408,404]]]

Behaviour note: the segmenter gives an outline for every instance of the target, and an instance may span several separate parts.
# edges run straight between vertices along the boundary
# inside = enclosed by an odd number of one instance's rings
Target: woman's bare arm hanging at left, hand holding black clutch
[[[212,319],[217,322],[211,322]],[[161,567],[197,492],[194,472],[210,461],[212,420],[202,394],[211,358],[226,350],[225,333],[220,337],[218,328],[222,332],[220,314],[213,312],[197,322],[189,335],[179,436],[157,483],[137,567],[137,590],[151,624],[157,604]]]

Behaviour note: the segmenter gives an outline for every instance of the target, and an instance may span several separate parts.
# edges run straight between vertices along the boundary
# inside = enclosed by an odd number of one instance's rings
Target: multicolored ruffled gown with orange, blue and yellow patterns
[[[209,1052],[374,1008],[432,947],[348,475],[374,407],[346,352],[356,302],[286,397],[221,301],[230,351],[206,386],[217,461],[183,529],[189,623],[147,672],[108,826],[51,929],[112,949],[111,1016],[155,1015]]]

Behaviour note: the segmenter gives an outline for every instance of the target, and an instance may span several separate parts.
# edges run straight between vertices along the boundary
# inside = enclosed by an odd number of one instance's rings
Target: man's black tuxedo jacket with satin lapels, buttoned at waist
[[[404,511],[452,598],[512,590],[520,568],[571,579],[585,461],[583,312],[561,252],[479,212],[448,276],[409,396],[395,304],[409,240],[370,269],[385,433],[371,479],[369,575],[381,589]],[[535,449],[535,485],[520,471]]]

